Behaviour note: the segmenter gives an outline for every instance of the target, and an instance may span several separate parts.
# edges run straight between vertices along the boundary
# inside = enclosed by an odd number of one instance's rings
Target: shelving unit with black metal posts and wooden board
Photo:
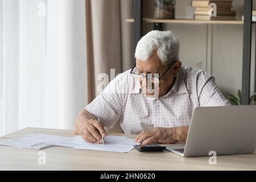
[[[154,23],[154,30],[162,30],[163,23],[182,24],[242,24],[243,25],[243,67],[242,67],[242,105],[250,102],[250,73],[251,73],[251,11],[253,1],[244,0],[244,20],[194,20],[194,19],[154,19],[142,17],[142,0],[134,0],[134,19],[127,19],[126,22],[134,23],[134,51],[137,43],[142,37],[142,22]],[[255,36],[256,42],[256,36]],[[255,46],[256,57],[256,46]],[[256,59],[256,58],[255,58]],[[256,71],[256,64],[255,64]],[[256,74],[254,77],[254,92],[256,92]]]

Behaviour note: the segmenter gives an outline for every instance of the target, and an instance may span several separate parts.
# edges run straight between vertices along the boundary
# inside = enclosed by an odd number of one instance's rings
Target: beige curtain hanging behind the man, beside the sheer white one
[[[97,94],[97,76],[131,68],[133,61],[133,0],[85,0],[88,61],[88,98]]]

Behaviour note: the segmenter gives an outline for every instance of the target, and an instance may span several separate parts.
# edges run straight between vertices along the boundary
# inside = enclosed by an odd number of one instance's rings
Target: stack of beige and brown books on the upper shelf
[[[232,10],[233,1],[222,0],[193,0],[194,15],[197,20],[236,20],[236,11]],[[216,16],[210,16],[213,12],[210,3],[216,4]],[[213,9],[214,10],[214,9]]]

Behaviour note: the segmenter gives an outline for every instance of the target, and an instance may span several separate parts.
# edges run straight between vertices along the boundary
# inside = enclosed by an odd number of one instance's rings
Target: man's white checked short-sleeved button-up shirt
[[[156,100],[142,93],[129,70],[114,78],[86,110],[105,127],[120,121],[126,134],[139,134],[154,127],[189,126],[195,107],[227,105],[212,75],[182,67],[170,91]]]

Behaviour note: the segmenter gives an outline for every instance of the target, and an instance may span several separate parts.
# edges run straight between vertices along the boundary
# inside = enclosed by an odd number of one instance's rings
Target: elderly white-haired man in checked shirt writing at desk
[[[143,36],[135,58],[134,67],[77,116],[75,133],[87,142],[102,143],[104,127],[117,121],[126,134],[139,134],[137,143],[185,142],[195,107],[230,105],[213,76],[181,66],[179,40],[171,31]]]

